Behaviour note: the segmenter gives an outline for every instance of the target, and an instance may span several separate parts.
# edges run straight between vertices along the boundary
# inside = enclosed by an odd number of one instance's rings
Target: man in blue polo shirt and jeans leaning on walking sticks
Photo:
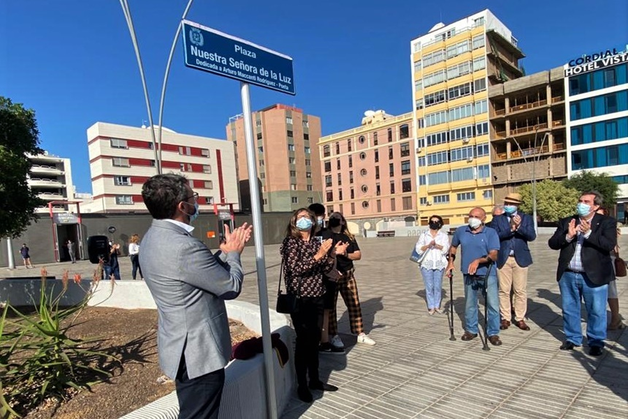
[[[497,272],[493,262],[497,260],[500,250],[500,237],[493,228],[484,226],[486,212],[475,207],[469,212],[468,226],[456,229],[449,247],[449,263],[447,274],[454,270],[454,259],[458,246],[461,250],[460,269],[465,279],[465,333],[461,339],[470,341],[477,337],[477,293],[481,291],[478,279],[484,281],[486,273],[486,304],[488,304],[488,325],[486,334],[488,341],[495,346],[502,344],[500,340],[500,300],[498,296]]]

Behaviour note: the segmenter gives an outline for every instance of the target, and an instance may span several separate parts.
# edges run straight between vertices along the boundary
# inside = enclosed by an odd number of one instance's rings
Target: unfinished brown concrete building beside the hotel
[[[567,177],[562,67],[488,87],[495,203],[522,184]]]

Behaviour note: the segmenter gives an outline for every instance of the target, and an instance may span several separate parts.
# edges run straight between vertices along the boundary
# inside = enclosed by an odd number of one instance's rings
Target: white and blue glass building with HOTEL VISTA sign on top
[[[628,49],[628,47],[627,47]],[[565,64],[567,169],[605,172],[620,185],[615,214],[628,211],[628,50],[584,54]]]

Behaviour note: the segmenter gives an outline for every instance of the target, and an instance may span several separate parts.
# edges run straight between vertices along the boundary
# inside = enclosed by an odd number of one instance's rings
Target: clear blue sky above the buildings
[[[186,0],[130,0],[157,118],[172,37]],[[527,57],[528,74],[628,43],[627,0],[207,1],[188,19],[294,59],[297,96],[252,87],[253,110],[297,105],[322,119],[324,135],[360,123],[367,109],[412,109],[410,41],[489,8]],[[164,126],[225,138],[241,113],[239,83],[186,68],[177,47]],[[41,146],[72,159],[79,192],[91,192],[86,129],[147,119],[133,45],[119,1],[5,0],[0,5],[0,95],[36,110]]]

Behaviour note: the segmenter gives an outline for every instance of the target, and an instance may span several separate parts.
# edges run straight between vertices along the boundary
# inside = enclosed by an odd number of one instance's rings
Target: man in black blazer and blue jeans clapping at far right
[[[606,339],[606,294],[613,279],[611,251],[617,244],[615,220],[596,214],[602,204],[597,191],[583,192],[576,215],[558,222],[549,240],[551,249],[560,250],[556,278],[562,297],[565,341],[560,348],[571,351],[582,344],[581,300],[587,308],[589,354],[603,353]]]

